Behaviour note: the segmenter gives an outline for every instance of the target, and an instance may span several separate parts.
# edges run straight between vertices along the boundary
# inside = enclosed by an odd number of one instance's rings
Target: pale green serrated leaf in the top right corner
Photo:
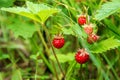
[[[107,2],[103,4],[99,10],[97,10],[97,14],[95,15],[95,18],[100,21],[119,10],[120,10],[120,1]]]

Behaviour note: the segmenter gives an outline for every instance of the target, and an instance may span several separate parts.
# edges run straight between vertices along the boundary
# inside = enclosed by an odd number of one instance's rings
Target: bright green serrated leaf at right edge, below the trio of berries
[[[111,50],[120,46],[120,40],[114,39],[113,37],[103,40],[100,43],[96,43],[90,46],[92,53],[103,53],[107,50]]]

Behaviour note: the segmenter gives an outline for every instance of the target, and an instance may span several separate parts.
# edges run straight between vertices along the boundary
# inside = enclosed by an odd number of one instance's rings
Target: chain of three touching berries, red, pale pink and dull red
[[[85,15],[80,15],[78,17],[78,23],[79,23],[79,25],[81,25],[83,27],[83,30],[88,35],[88,37],[87,37],[88,43],[92,44],[92,43],[98,41],[99,36],[94,33],[94,29],[95,29],[96,25],[92,24],[92,23],[87,23],[87,18]]]

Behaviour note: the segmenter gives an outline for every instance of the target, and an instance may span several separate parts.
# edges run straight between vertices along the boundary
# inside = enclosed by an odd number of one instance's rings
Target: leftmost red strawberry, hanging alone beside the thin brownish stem
[[[65,40],[64,37],[62,37],[61,35],[57,35],[54,37],[52,44],[55,48],[62,48],[65,44]]]

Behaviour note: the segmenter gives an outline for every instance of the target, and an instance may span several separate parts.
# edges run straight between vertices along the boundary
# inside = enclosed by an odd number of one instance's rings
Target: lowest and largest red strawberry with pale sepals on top
[[[85,49],[79,49],[75,55],[75,60],[80,64],[84,64],[89,60],[89,53]]]

